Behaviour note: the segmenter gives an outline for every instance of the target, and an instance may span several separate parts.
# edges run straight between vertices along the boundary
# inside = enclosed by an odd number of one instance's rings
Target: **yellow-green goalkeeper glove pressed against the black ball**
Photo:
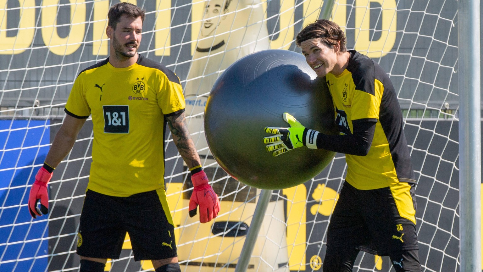
[[[263,143],[266,143],[265,149],[268,152],[273,151],[274,157],[283,154],[294,148],[306,145],[308,148],[317,148],[318,131],[305,128],[294,116],[284,113],[284,120],[290,127],[288,128],[274,128],[265,127],[265,132],[275,134],[263,138]]]

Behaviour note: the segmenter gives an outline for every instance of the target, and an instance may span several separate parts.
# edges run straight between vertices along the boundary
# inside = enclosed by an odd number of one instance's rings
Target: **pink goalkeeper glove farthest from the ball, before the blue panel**
[[[30,188],[28,195],[28,211],[33,218],[40,213],[46,215],[49,212],[49,194],[47,193],[47,183],[52,178],[52,173],[49,173],[45,168],[41,167],[39,172],[35,175],[35,182]],[[40,209],[37,207],[37,201],[40,200]]]

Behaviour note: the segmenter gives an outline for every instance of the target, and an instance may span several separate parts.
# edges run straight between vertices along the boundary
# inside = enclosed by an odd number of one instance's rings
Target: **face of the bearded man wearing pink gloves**
[[[110,28],[110,27],[108,27]],[[108,36],[118,58],[136,56],[141,43],[141,17],[132,18],[124,14],[117,22],[116,29],[108,30]]]

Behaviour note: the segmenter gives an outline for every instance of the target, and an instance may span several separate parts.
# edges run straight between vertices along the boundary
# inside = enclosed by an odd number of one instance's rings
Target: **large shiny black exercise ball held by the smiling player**
[[[249,186],[282,189],[311,180],[334,152],[293,149],[278,157],[265,150],[265,127],[288,127],[287,112],[308,129],[337,134],[325,78],[296,52],[265,50],[247,55],[215,82],[205,108],[205,135],[213,157]]]

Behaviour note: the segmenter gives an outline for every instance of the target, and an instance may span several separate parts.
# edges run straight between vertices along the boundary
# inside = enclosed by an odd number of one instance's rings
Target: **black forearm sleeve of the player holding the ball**
[[[319,132],[317,148],[343,154],[366,156],[374,137],[377,119],[366,118],[352,121],[352,134],[327,135]]]

